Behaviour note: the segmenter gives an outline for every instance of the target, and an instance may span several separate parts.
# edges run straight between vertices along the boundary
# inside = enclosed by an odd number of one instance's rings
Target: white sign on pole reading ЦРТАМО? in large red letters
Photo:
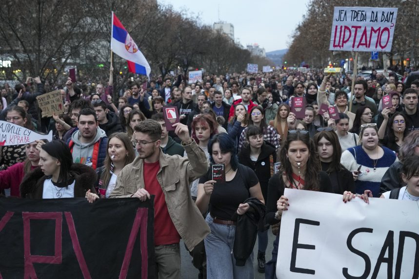
[[[329,50],[390,52],[397,10],[335,7]]]

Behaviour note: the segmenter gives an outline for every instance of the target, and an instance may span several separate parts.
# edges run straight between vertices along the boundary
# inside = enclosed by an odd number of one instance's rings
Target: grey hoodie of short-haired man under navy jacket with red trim
[[[73,154],[73,162],[80,163],[86,166],[93,166],[93,160],[95,159],[93,158],[94,146],[101,139],[106,139],[105,142],[107,143],[108,138],[106,136],[106,133],[104,130],[100,129],[99,127],[96,128],[96,135],[90,143],[81,143],[79,137],[80,137],[80,130],[77,130],[71,135],[71,141],[73,142],[73,146],[70,146],[70,149],[71,149],[71,153]],[[102,142],[103,140],[101,140],[100,146],[103,144]],[[96,156],[98,155],[99,154],[97,154]],[[103,164],[103,161],[101,162],[101,164]],[[96,167],[101,167],[101,164],[98,162]]]

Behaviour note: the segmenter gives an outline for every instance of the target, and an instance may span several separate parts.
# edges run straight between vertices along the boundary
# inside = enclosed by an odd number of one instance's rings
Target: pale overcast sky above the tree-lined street
[[[213,25],[219,20],[234,25],[234,37],[244,47],[258,43],[266,52],[285,49],[290,35],[309,0],[159,0],[171,4],[175,10],[184,8],[193,16],[200,16],[202,23]]]

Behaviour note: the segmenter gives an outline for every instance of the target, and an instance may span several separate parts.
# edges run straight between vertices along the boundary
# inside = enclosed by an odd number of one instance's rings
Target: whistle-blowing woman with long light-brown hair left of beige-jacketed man
[[[126,133],[114,133],[109,136],[105,161],[103,166],[96,169],[98,193],[87,193],[87,200],[93,203],[96,199],[109,198],[115,189],[117,177],[123,167],[131,164],[135,159],[135,152],[132,148],[131,139]]]

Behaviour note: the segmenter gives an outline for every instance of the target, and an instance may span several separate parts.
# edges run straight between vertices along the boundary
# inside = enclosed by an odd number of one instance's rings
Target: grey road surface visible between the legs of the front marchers
[[[275,236],[271,232],[271,228],[268,231],[268,248],[266,249],[266,261],[272,258],[272,248],[275,240]],[[258,261],[256,259],[258,255],[258,240],[256,240],[255,248],[253,249],[253,265],[255,267],[255,279],[264,279],[265,274],[258,272]],[[185,249],[185,245],[180,241],[180,259],[181,259],[181,278],[182,279],[197,279],[198,270],[192,265],[191,256]]]

